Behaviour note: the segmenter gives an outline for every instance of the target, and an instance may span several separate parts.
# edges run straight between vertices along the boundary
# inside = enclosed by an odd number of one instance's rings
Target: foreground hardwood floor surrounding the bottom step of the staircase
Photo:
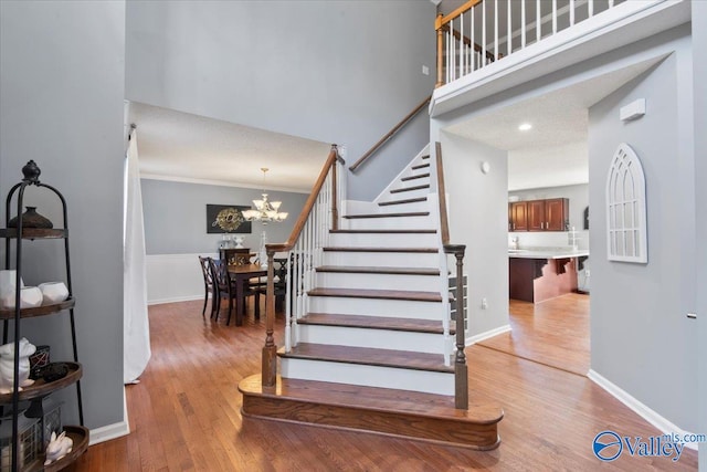
[[[488,452],[369,433],[242,418],[239,381],[260,370],[262,321],[202,321],[202,302],[151,306],[152,359],[128,386],[130,434],[93,445],[68,471],[540,471],[696,470],[624,452],[610,463],[592,440],[611,429],[658,431],[585,377],[484,346],[466,349],[471,402],[503,406],[500,447]],[[282,318],[276,339],[282,344]],[[560,347],[555,356],[566,355]],[[552,356],[549,350],[546,356]]]

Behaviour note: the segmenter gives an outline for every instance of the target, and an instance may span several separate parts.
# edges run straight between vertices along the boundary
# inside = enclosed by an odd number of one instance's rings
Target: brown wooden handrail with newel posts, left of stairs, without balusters
[[[283,243],[274,243],[274,244],[265,244],[265,250],[267,252],[267,287],[265,289],[265,346],[263,346],[262,353],[262,386],[263,388],[274,388],[277,385],[277,345],[275,345],[275,337],[273,335],[275,331],[275,271],[273,269],[274,258],[276,252],[285,252],[289,251],[294,248],[295,243],[299,239],[299,234],[314,209],[315,202],[324,183],[329,175],[329,171],[334,172],[334,181],[333,181],[333,198],[331,198],[331,216],[333,218],[338,218],[338,209],[337,209],[337,195],[336,195],[336,165],[340,162],[344,165],[344,159],[339,156],[339,151],[336,145],[331,145],[331,150],[329,151],[329,156],[327,160],[324,162],[321,167],[321,171],[319,172],[319,177],[312,188],[312,192],[305,202],[305,207],[299,213],[299,218],[295,222],[292,232],[289,233],[289,238],[286,242]],[[338,224],[336,221],[333,221],[333,225],[336,227]],[[333,228],[336,229],[336,228]]]

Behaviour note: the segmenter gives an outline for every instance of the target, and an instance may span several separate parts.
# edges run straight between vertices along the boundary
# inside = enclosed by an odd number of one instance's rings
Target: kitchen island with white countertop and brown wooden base
[[[510,298],[538,303],[577,291],[580,258],[589,250],[537,248],[508,250]]]

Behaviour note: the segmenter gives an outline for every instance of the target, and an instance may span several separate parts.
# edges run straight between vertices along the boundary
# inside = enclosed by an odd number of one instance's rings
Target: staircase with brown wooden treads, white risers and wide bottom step
[[[441,295],[449,280],[430,166],[425,149],[374,202],[348,206],[303,291],[295,342],[277,352],[276,388],[260,376],[239,386],[244,416],[498,445],[499,408],[454,408],[454,328]]]

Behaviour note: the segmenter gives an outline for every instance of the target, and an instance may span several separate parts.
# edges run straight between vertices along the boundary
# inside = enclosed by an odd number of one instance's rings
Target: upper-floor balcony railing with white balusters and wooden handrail
[[[437,87],[626,0],[469,0],[439,14]]]

